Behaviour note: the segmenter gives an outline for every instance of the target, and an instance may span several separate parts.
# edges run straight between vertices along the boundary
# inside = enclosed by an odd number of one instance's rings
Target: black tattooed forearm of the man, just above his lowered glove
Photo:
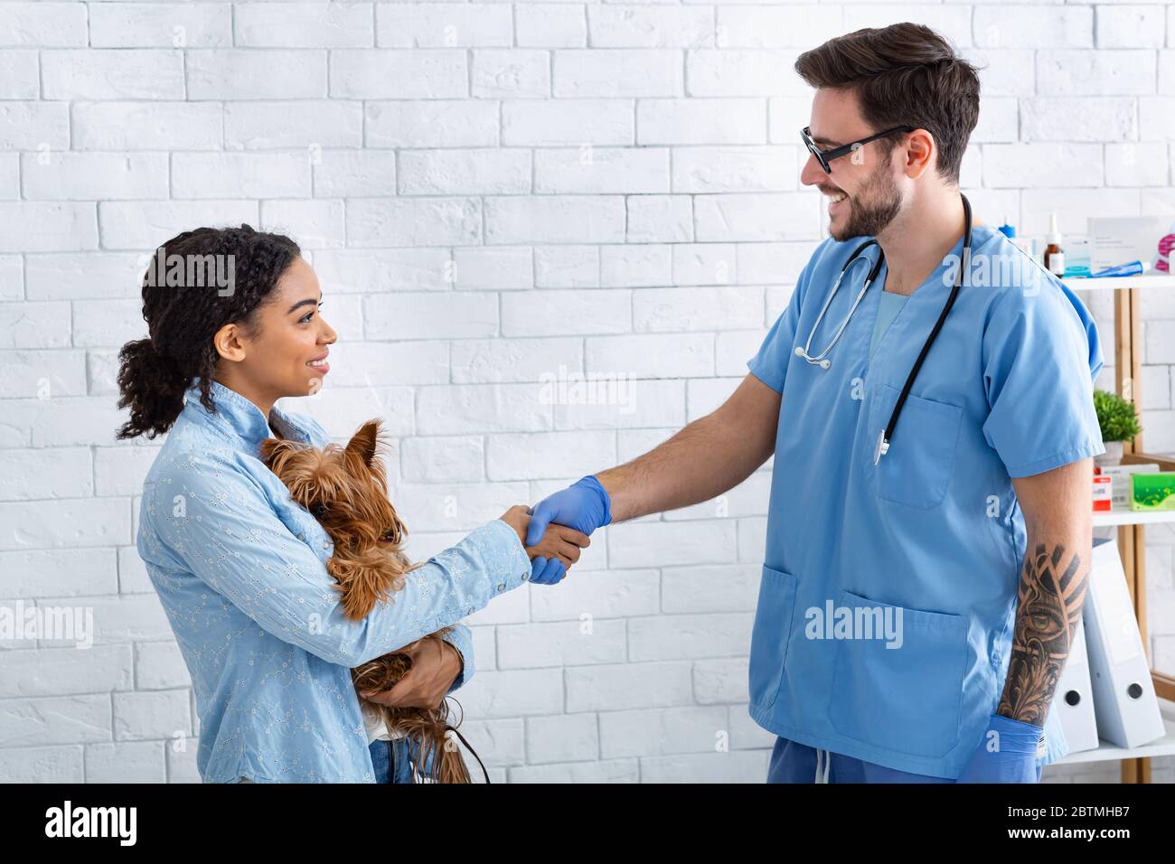
[[[1088,568],[1065,547],[1043,543],[1025,555],[1012,661],[998,714],[1045,725],[1074,628],[1085,603]]]

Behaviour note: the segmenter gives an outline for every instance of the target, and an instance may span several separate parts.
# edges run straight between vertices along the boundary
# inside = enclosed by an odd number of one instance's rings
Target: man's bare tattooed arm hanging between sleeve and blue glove
[[[1093,555],[1093,460],[1013,478],[1028,533],[1012,662],[996,714],[1045,725],[1081,617]]]

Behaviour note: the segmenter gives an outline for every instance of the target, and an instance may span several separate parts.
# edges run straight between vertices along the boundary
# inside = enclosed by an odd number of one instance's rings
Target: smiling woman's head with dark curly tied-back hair
[[[184,232],[153,256],[142,293],[150,336],[122,348],[119,407],[130,420],[120,438],[166,431],[197,379],[209,410],[216,380],[268,414],[282,396],[317,391],[330,369],[337,336],[318,315],[317,276],[284,235]]]

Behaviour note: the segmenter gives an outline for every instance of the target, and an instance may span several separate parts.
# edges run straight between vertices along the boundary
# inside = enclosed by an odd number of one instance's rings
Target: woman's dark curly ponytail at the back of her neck
[[[119,408],[130,408],[130,420],[118,438],[146,435],[154,438],[175,423],[183,410],[183,394],[190,380],[180,366],[161,354],[149,339],[127,342],[119,351]]]

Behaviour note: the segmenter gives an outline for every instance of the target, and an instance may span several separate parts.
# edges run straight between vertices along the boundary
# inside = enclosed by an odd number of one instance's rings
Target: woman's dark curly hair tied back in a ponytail
[[[212,380],[219,354],[213,337],[227,323],[255,331],[254,313],[277,280],[301,254],[282,234],[240,228],[196,228],[160,246],[143,275],[143,319],[148,339],[133,340],[119,351],[119,408],[130,407],[130,420],[118,438],[166,433],[183,410],[184,393],[200,382],[200,403],[215,411]],[[196,277],[196,268],[160,268],[157,262],[216,261],[231,268],[228,284]]]

